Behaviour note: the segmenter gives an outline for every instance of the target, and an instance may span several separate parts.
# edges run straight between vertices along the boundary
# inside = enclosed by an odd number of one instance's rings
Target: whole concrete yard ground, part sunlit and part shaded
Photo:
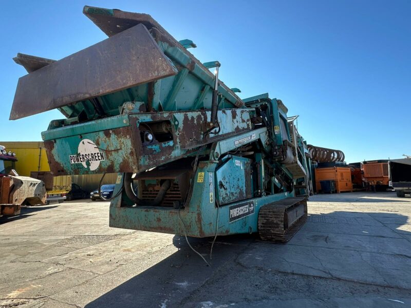
[[[411,198],[318,195],[288,244],[108,227],[108,202],[0,218],[0,307],[410,307]],[[209,260],[210,239],[190,239]]]

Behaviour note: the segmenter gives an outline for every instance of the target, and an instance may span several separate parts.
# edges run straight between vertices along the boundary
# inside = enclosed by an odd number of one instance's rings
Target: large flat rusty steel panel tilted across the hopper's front
[[[176,73],[176,68],[140,24],[21,77],[10,120]]]

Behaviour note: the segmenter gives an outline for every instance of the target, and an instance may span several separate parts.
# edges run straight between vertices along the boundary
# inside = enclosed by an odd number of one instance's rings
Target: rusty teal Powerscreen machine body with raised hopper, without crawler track
[[[10,118],[56,108],[65,115],[42,133],[50,168],[118,173],[110,226],[253,233],[261,206],[305,194],[294,185],[308,180],[307,145],[280,100],[240,99],[210,71],[218,72],[217,61],[201,64],[187,50],[192,41],[177,42],[149,15],[84,13],[109,38],[69,62],[18,55],[29,74]],[[42,88],[54,79],[66,83]]]

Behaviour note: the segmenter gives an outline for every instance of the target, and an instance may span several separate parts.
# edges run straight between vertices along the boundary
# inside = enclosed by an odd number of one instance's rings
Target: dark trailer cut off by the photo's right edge
[[[389,161],[391,183],[397,197],[411,194],[411,159],[393,159]]]

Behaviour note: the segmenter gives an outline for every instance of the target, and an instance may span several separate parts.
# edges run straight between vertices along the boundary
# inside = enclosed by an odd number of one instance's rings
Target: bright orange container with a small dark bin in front
[[[335,190],[352,191],[351,169],[345,167],[329,167],[315,169],[315,187],[316,191],[321,190],[320,181],[332,180],[335,182]]]

